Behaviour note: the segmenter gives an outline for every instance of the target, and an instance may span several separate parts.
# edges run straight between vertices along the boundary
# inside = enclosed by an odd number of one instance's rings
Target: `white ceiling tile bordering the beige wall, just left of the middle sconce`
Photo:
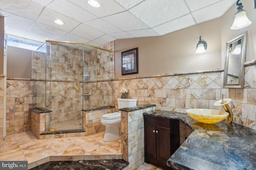
[[[182,28],[189,27],[194,24],[195,24],[194,19],[192,18],[191,14],[188,14],[186,16],[180,17],[176,20],[166,22],[152,29],[154,29],[160,35],[164,35],[167,33],[171,33],[173,31],[177,31]]]

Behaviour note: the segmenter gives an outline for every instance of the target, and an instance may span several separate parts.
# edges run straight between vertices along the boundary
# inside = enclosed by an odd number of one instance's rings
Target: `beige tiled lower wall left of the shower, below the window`
[[[6,135],[30,130],[30,111],[36,94],[34,80],[7,80]]]

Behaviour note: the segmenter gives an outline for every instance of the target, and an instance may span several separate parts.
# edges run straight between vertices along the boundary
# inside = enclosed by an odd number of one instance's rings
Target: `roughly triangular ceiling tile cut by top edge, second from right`
[[[186,0],[186,3],[191,12],[193,12],[220,1],[222,0]]]

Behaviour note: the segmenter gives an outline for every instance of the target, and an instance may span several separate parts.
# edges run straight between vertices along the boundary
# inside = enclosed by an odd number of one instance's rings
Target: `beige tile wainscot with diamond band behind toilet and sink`
[[[231,98],[234,122],[256,129],[256,65],[245,67],[244,88],[222,88],[223,72],[134,78],[112,81],[113,106],[120,88],[137,104],[156,104],[156,109],[186,113],[190,108],[221,109],[214,102]]]

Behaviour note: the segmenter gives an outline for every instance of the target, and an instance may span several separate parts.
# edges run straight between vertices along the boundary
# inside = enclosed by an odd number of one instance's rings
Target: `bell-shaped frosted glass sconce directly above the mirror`
[[[242,6],[242,3],[238,3],[240,0],[238,0],[236,2],[237,7],[237,12],[235,14],[235,19],[233,22],[233,25],[230,27],[230,29],[240,29],[240,28],[244,28],[247,27],[248,25],[250,25],[252,23],[252,21],[250,21],[247,16],[246,16],[246,11],[243,10],[244,6]],[[254,5],[255,4],[255,0],[254,0]],[[255,8],[254,8],[255,9]]]

